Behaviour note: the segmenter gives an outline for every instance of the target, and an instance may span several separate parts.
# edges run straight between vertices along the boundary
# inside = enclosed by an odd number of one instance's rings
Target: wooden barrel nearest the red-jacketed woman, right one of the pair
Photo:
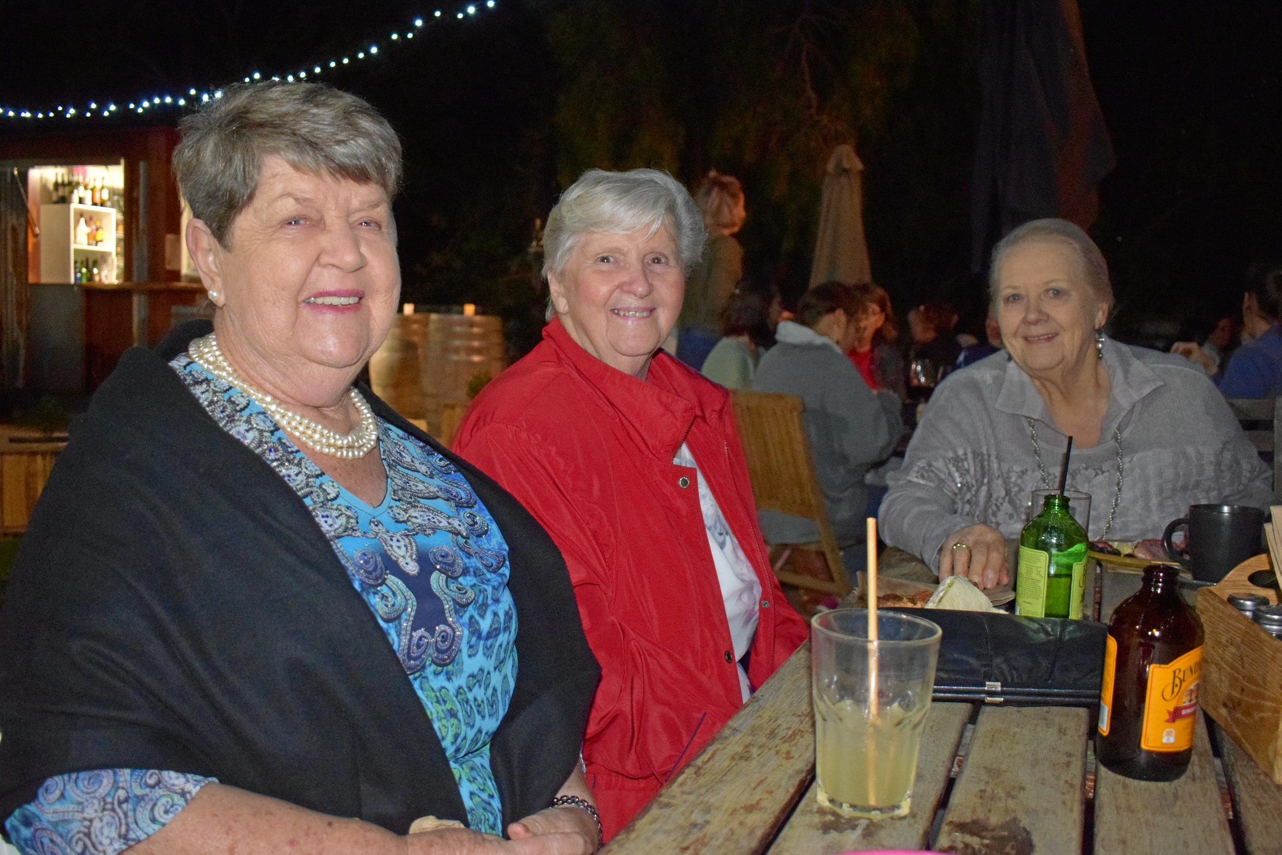
[[[418,315],[410,315],[418,317]],[[446,409],[467,406],[468,383],[477,374],[497,377],[508,367],[503,319],[497,315],[428,314],[427,347],[420,351],[427,429],[440,436]]]

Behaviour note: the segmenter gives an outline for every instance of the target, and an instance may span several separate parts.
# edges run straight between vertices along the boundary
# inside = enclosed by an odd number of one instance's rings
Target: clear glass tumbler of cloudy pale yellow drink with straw
[[[940,628],[923,618],[836,609],[810,620],[819,804],[844,817],[903,817],[931,708]]]

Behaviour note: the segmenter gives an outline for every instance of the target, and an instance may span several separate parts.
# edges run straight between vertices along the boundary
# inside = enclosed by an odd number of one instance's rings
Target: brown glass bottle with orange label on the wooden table
[[[1203,628],[1178,572],[1146,567],[1109,622],[1095,754],[1127,778],[1174,781],[1194,755]]]

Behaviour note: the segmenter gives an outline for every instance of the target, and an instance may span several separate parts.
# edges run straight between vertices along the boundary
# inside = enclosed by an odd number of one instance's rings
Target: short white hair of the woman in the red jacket
[[[585,235],[628,235],[667,226],[687,274],[704,256],[704,217],[690,192],[660,169],[588,169],[562,194],[544,229],[544,277],[560,273]]]

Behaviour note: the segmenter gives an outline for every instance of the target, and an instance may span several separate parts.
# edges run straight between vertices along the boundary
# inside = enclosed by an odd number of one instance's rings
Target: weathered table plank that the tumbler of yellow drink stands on
[[[815,800],[818,784],[801,797],[770,855],[835,855],[876,849],[926,849],[931,819],[944,796],[970,704],[932,704],[917,759],[912,811],[897,819],[847,819]]]

